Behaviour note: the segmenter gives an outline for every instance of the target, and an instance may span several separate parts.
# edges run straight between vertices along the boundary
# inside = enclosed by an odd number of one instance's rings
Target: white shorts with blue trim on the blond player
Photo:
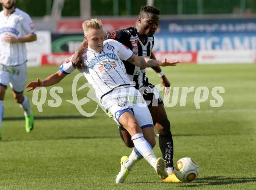
[[[118,87],[101,99],[101,106],[107,114],[119,123],[119,117],[130,112],[136,118],[140,128],[154,127],[153,120],[143,96],[134,87]]]

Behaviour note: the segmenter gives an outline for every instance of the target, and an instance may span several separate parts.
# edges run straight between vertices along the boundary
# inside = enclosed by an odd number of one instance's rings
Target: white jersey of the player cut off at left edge
[[[0,64],[17,66],[27,61],[26,45],[5,42],[6,35],[13,35],[17,38],[34,33],[33,21],[27,13],[16,8],[10,15],[5,16],[2,10],[0,12]]]

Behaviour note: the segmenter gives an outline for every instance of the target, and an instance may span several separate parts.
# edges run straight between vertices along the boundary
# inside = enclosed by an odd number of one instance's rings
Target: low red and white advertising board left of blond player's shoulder
[[[54,65],[59,66],[64,63],[73,53],[49,53],[41,56],[41,65]]]

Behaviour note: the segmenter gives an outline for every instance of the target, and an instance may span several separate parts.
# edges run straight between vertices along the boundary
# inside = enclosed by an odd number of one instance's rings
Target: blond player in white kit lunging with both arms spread
[[[155,137],[152,117],[147,104],[140,92],[131,85],[122,60],[141,67],[169,66],[173,62],[162,63],[158,60],[140,58],[118,41],[104,41],[102,24],[97,19],[84,21],[83,30],[88,47],[84,49],[84,67],[80,69],[80,72],[87,78],[88,83],[93,85],[101,106],[112,113],[115,121],[122,124],[130,133],[135,148],[145,160],[154,167],[161,178],[168,177],[165,161],[162,157],[157,159],[152,150],[155,145]],[[47,87],[59,83],[74,70],[70,58],[59,67],[59,71],[55,74],[48,76],[43,81],[37,79],[37,81],[29,83],[28,91],[36,87]],[[125,167],[121,173],[120,178],[116,178],[116,183],[125,180]]]

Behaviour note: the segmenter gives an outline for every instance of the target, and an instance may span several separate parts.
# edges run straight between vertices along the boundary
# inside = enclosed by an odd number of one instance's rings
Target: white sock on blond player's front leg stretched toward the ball
[[[143,137],[143,134],[137,133],[131,137],[131,140],[133,141],[135,148],[138,150],[138,152],[140,152],[144,159],[147,160],[147,162],[150,163],[155,170],[157,170],[157,157],[155,157],[155,153],[151,145]]]

